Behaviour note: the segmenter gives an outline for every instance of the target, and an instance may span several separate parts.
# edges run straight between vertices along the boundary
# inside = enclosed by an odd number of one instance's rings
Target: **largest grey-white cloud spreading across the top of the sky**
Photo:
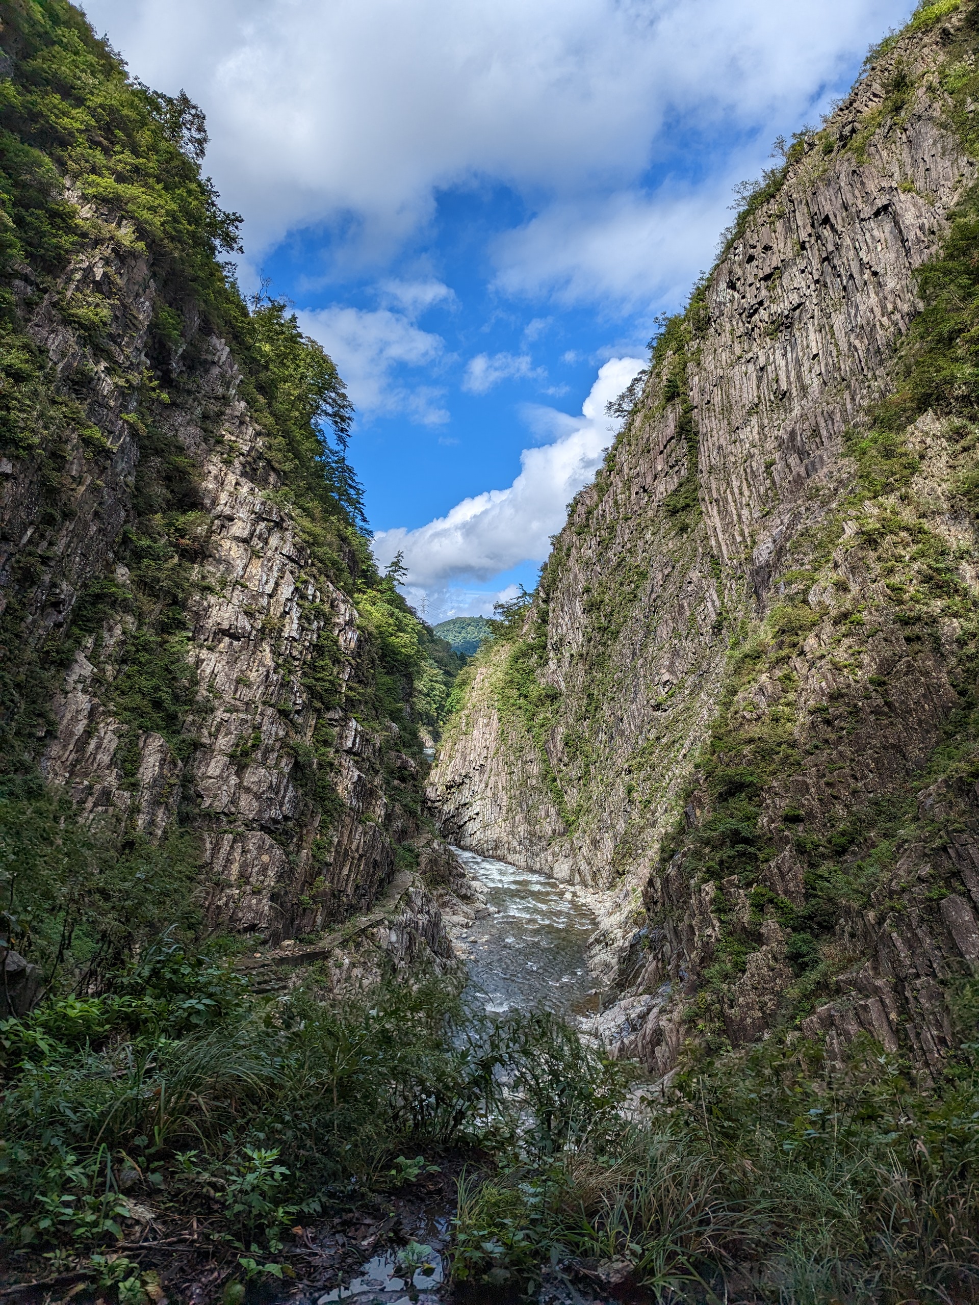
[[[589,231],[641,235],[637,188],[670,124],[774,134],[911,7],[794,0],[773,21],[770,0],[84,3],[137,76],[208,112],[209,168],[252,257],[324,223],[347,265],[381,258],[440,188],[491,180],[539,213],[504,249],[504,283],[533,279],[550,224],[578,234],[594,273],[546,258],[565,295],[608,281]]]

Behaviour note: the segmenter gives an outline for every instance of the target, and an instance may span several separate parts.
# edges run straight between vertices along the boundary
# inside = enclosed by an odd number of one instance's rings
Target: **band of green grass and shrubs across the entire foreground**
[[[533,1295],[551,1266],[666,1300],[979,1298],[971,1047],[922,1088],[871,1044],[830,1070],[773,1040],[636,1122],[628,1070],[551,1018],[493,1023],[435,980],[257,998],[176,945],[0,1047],[8,1263],[95,1266],[131,1305],[134,1205],[269,1276],[296,1221],[390,1186],[399,1155],[463,1147],[484,1163],[459,1182],[458,1284]]]

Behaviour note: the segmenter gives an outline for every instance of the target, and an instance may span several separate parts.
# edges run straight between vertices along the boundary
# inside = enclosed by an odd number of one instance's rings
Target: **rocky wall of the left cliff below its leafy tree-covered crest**
[[[14,281],[57,422],[0,458],[4,723],[106,837],[189,835],[211,923],[321,929],[420,833],[410,677],[401,724],[354,716],[377,714],[367,545],[341,521],[324,561],[192,290],[110,206],[59,202],[93,239],[54,283],[27,261]],[[161,313],[180,330],[164,359]]]

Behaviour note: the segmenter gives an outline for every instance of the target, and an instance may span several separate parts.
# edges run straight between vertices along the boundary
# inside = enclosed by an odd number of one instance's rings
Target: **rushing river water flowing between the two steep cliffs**
[[[458,847],[453,851],[482,885],[491,912],[453,930],[487,1010],[569,1015],[591,1009],[595,988],[585,949],[595,917],[587,906],[556,880]]]

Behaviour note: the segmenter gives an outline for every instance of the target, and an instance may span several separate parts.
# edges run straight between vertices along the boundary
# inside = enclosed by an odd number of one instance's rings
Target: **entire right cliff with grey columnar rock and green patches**
[[[756,191],[432,776],[617,890],[606,1034],[659,1071],[791,1026],[937,1065],[979,959],[978,27],[922,10]]]

